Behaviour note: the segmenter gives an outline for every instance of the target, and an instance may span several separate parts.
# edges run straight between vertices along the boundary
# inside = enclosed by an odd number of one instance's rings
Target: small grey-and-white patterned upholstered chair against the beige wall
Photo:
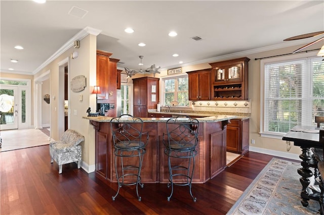
[[[62,173],[62,165],[77,162],[77,169],[80,169],[82,159],[82,147],[80,142],[85,137],[74,130],[68,129],[64,132],[59,141],[50,142],[51,163],[53,160],[59,166],[59,174]]]

